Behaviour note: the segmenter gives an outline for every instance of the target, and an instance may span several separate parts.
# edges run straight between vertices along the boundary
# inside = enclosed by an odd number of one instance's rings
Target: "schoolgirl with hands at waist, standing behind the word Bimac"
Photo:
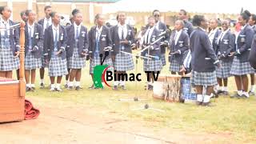
[[[134,70],[134,61],[131,47],[134,46],[134,29],[132,26],[126,24],[126,14],[118,14],[118,25],[111,27],[111,38],[114,46],[112,55],[114,70],[117,74],[126,74],[128,70]],[[124,54],[122,53],[130,53]],[[114,82],[114,90],[118,90],[118,82],[122,86],[122,90],[126,90],[125,81],[119,79]]]

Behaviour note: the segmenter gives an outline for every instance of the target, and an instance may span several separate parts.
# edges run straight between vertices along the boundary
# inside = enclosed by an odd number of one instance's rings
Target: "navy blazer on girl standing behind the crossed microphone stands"
[[[150,43],[156,41],[158,39],[158,35],[160,34],[160,31],[157,30],[156,28],[154,28],[152,34],[151,34],[151,37],[150,37]],[[146,37],[146,35],[144,35],[144,37]],[[155,42],[154,45],[153,45],[153,48],[154,50],[150,50],[150,55],[152,56],[158,56],[160,58],[161,56],[161,50],[160,50],[160,42],[161,41],[158,41],[158,42]],[[143,38],[143,43],[142,43],[142,49],[144,47],[146,47],[146,42],[145,42],[145,39]],[[142,52],[142,56],[146,56],[146,54],[148,54],[148,50],[144,50]]]

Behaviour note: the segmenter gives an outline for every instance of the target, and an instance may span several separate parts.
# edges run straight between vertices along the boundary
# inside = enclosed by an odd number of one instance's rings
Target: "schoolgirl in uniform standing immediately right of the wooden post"
[[[25,26],[25,78],[26,91],[35,90],[35,70],[41,68],[43,34],[42,26],[35,22],[36,14],[26,10],[28,18]],[[31,80],[30,80],[31,77]]]

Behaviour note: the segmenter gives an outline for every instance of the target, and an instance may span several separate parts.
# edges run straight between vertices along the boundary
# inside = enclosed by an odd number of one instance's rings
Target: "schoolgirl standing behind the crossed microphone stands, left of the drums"
[[[144,35],[144,40],[142,44],[142,49],[145,48],[146,46],[149,46],[150,43],[156,41],[158,39],[158,35],[160,34],[160,31],[155,28],[155,19],[153,16],[150,16],[148,18],[148,28],[146,30],[146,33]],[[144,59],[143,61],[143,70],[146,72],[151,72],[147,89],[148,90],[153,90],[153,82],[154,82],[154,77],[153,73],[155,74],[157,72],[160,72],[162,70],[162,61],[161,61],[161,50],[160,50],[160,41],[154,43],[154,45],[150,46],[150,57],[151,59]],[[148,55],[148,50],[144,50],[142,52],[142,56],[144,57],[149,57]],[[152,58],[152,56],[154,58]],[[149,58],[150,58],[149,57]]]

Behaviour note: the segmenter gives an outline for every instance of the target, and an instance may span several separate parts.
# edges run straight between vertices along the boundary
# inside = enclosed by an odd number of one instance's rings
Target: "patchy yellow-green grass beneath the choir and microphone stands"
[[[139,70],[142,72],[142,61],[138,62]],[[162,74],[169,74],[169,66],[165,66]],[[135,73],[135,70],[133,71]],[[86,69],[82,70],[83,90],[64,90],[62,93],[53,93],[48,89],[37,90],[34,93],[27,93],[28,97],[40,97],[52,101],[74,102],[79,105],[91,106],[94,108],[108,110],[110,113],[118,114],[122,118],[140,120],[145,126],[154,130],[172,128],[186,130],[191,133],[207,132],[231,134],[238,142],[256,142],[256,98],[212,99],[215,106],[202,107],[194,104],[170,103],[155,100],[151,97],[152,92],[144,90],[145,82],[127,82],[128,90],[114,91],[110,88],[104,90],[88,90],[92,84],[89,75],[89,63]],[[37,74],[38,75],[38,74]],[[143,74],[143,80],[146,80]],[[49,79],[49,78],[46,78]],[[39,78],[37,79],[39,82]],[[47,81],[49,82],[49,81]],[[63,78],[62,83],[65,82]],[[38,86],[38,83],[37,83]],[[234,78],[229,80],[231,94],[236,90]],[[120,102],[119,98],[146,98],[142,102]],[[141,108],[146,103],[150,107],[164,110],[133,110]],[[74,107],[75,108],[75,107]]]

